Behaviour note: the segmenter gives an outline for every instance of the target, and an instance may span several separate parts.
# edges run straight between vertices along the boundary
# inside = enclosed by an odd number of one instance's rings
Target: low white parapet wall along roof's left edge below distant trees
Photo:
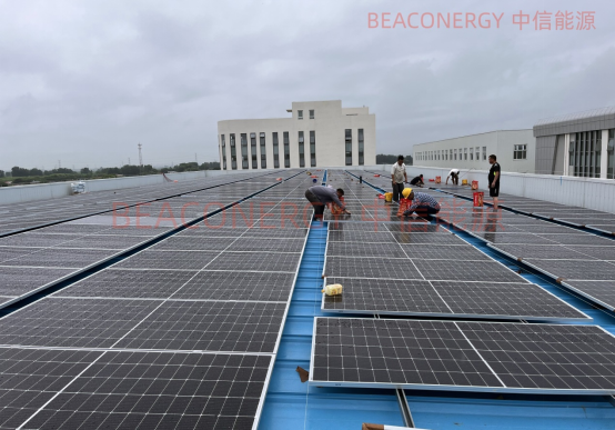
[[[198,178],[215,177],[220,174],[233,174],[236,171],[228,172],[222,170],[200,170],[196,172],[167,173],[169,179],[186,181]],[[125,177],[111,179],[85,180],[85,190],[109,191],[125,188],[152,186],[164,183],[162,174],[148,174],[143,177]],[[0,188],[0,204],[24,203],[28,201],[53,199],[71,194],[71,182],[37,183],[31,186],[13,186]]]

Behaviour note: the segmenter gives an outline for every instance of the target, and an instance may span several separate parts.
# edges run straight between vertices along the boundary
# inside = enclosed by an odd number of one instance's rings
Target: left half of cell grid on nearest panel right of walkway
[[[454,326],[316,318],[311,381],[502,387]]]

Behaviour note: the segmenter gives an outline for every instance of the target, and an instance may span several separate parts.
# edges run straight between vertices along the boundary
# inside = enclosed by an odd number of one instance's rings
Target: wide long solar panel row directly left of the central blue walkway
[[[0,428],[255,428],[308,234],[305,201],[292,197],[308,181],[278,183],[2,318]],[[202,210],[273,183],[189,201]]]

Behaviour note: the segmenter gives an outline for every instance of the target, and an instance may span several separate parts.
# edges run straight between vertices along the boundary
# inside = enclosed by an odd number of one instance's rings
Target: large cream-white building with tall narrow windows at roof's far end
[[[291,118],[218,121],[222,170],[376,163],[376,117],[341,100],[293,102]]]

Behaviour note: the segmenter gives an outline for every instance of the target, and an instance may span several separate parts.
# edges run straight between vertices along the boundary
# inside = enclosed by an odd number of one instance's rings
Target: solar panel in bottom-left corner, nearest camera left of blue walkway
[[[20,349],[0,350],[0,361],[13,377],[0,382],[2,428],[252,428],[273,363],[270,356]]]

